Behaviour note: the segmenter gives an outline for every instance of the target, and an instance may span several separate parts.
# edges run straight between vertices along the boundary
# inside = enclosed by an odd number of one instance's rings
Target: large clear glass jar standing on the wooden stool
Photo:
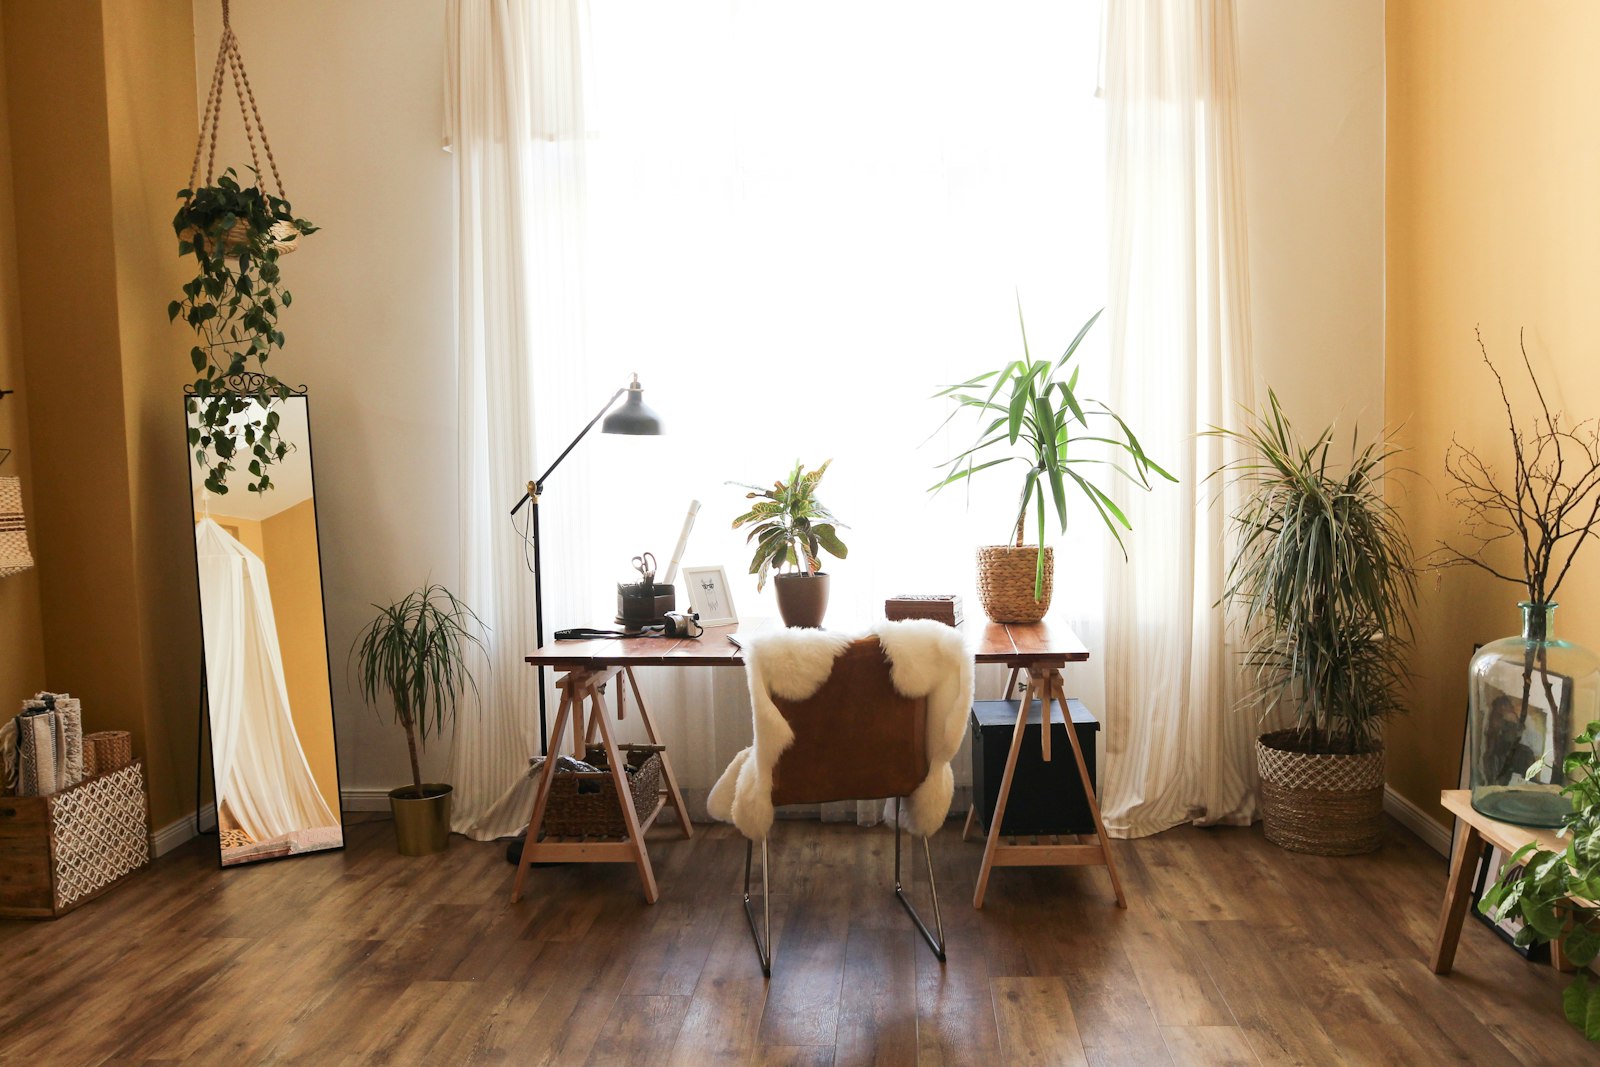
[[[1562,763],[1600,718],[1600,657],[1555,638],[1554,603],[1518,606],[1522,637],[1480,648],[1467,673],[1472,806],[1502,822],[1558,827],[1571,811]]]

